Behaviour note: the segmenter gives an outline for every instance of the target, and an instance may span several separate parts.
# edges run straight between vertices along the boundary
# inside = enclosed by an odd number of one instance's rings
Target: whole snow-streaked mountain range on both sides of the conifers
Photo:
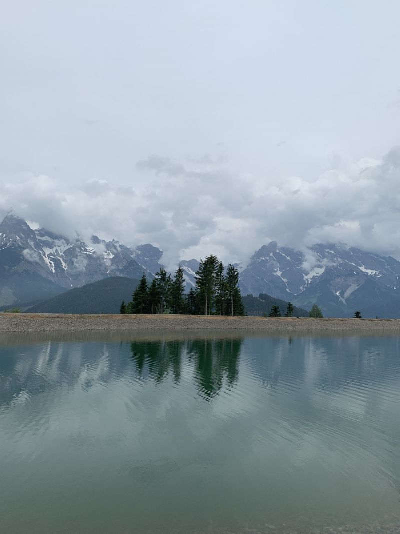
[[[93,235],[68,239],[32,229],[14,213],[0,224],[0,307],[50,299],[74,287],[109,277],[153,279],[161,249],[130,247]],[[187,289],[199,261],[181,262]],[[318,304],[326,317],[400,317],[400,262],[345,244],[317,244],[306,253],[272,241],[239,266],[243,295],[268,294],[297,307]]]

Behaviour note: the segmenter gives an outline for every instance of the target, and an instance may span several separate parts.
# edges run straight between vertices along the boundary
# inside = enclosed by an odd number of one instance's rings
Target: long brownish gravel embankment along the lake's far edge
[[[341,331],[399,332],[400,319],[310,319],[285,317],[205,317],[198,315],[81,315],[0,313],[0,332],[76,331]]]

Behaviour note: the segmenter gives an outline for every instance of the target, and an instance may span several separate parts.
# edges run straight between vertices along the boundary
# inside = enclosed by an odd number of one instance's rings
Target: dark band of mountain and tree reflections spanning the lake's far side
[[[393,382],[399,378],[400,341],[388,337],[209,337],[208,339],[121,342],[55,342],[3,345],[0,406],[58,387],[83,390],[113,381],[176,384],[193,376],[197,389],[212,399],[235,387],[242,372],[266,387],[303,381],[308,387],[340,390],[347,382]],[[134,365],[132,365],[132,363]],[[20,399],[20,400],[19,400]]]

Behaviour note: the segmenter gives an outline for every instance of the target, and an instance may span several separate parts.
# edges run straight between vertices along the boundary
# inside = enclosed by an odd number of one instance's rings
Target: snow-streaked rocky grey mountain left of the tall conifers
[[[0,306],[43,300],[108,276],[149,279],[162,251],[153,245],[130,248],[93,235],[90,244],[45,229],[33,230],[9,213],[0,224]]]

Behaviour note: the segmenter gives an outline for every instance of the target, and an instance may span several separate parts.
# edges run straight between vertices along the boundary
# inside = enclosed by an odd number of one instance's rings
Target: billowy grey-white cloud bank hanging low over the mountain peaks
[[[255,176],[226,161],[141,160],[132,184],[90,179],[67,187],[49,176],[4,180],[0,210],[56,233],[151,242],[169,268],[217,253],[245,264],[276,240],[302,250],[315,242],[346,242],[400,258],[400,147],[381,160],[351,160],[335,151],[318,176]],[[313,258],[308,258],[310,264]]]

